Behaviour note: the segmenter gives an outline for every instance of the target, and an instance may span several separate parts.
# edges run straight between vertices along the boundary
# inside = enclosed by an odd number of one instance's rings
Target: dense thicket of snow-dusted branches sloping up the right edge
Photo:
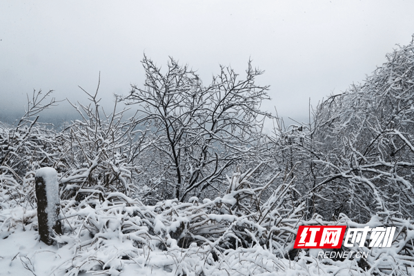
[[[386,55],[364,83],[322,101],[313,124],[275,139],[284,148],[284,166],[299,163],[297,186],[308,217],[413,218],[413,49],[411,43]]]

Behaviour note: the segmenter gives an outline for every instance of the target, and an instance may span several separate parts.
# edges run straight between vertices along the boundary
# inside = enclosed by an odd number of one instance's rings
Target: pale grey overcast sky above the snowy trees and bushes
[[[0,1],[0,118],[23,112],[26,93],[83,101],[144,83],[144,53],[197,70],[204,83],[248,59],[266,72],[264,109],[307,121],[327,95],[361,82],[414,33],[414,1]],[[61,103],[56,117],[67,116]]]

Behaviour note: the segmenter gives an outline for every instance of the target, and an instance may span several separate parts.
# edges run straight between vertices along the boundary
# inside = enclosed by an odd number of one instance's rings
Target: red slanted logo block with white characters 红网
[[[341,248],[346,226],[299,226],[294,248]]]

